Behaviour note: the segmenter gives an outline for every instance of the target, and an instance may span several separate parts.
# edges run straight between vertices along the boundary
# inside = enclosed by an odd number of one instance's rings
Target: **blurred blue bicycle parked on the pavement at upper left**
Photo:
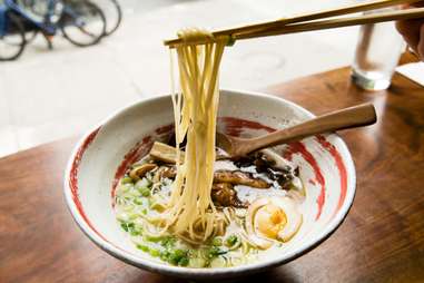
[[[31,6],[24,1],[32,1]],[[96,45],[106,32],[105,14],[88,0],[4,0],[0,4],[0,61],[17,59],[39,32],[52,48],[51,38],[58,30],[76,46]]]

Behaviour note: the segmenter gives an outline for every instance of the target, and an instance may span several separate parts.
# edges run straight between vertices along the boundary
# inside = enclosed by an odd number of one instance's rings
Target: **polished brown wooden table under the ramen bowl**
[[[250,282],[424,282],[424,88],[396,75],[365,92],[337,69],[268,92],[315,114],[374,103],[379,121],[342,134],[357,169],[345,223],[310,253]],[[91,243],[62,197],[76,139],[0,159],[0,282],[183,282],[124,264]]]

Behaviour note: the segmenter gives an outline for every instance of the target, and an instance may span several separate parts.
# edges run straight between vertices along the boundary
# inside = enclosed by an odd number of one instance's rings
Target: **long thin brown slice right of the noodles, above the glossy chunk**
[[[250,173],[245,172],[229,172],[229,170],[217,170],[214,174],[215,183],[230,183],[233,185],[245,185],[256,188],[268,188],[270,184],[260,178],[255,178]]]

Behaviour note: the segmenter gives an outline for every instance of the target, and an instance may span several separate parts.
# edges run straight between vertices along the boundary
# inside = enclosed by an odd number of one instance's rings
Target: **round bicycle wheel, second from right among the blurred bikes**
[[[92,46],[105,36],[105,14],[89,1],[67,1],[60,29],[69,42],[79,47]]]

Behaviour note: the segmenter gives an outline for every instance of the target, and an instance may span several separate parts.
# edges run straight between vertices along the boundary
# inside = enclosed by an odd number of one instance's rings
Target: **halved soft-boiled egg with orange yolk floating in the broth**
[[[272,241],[289,241],[303,222],[296,202],[290,197],[264,197],[256,199],[248,208],[246,228],[262,248],[268,248]]]

